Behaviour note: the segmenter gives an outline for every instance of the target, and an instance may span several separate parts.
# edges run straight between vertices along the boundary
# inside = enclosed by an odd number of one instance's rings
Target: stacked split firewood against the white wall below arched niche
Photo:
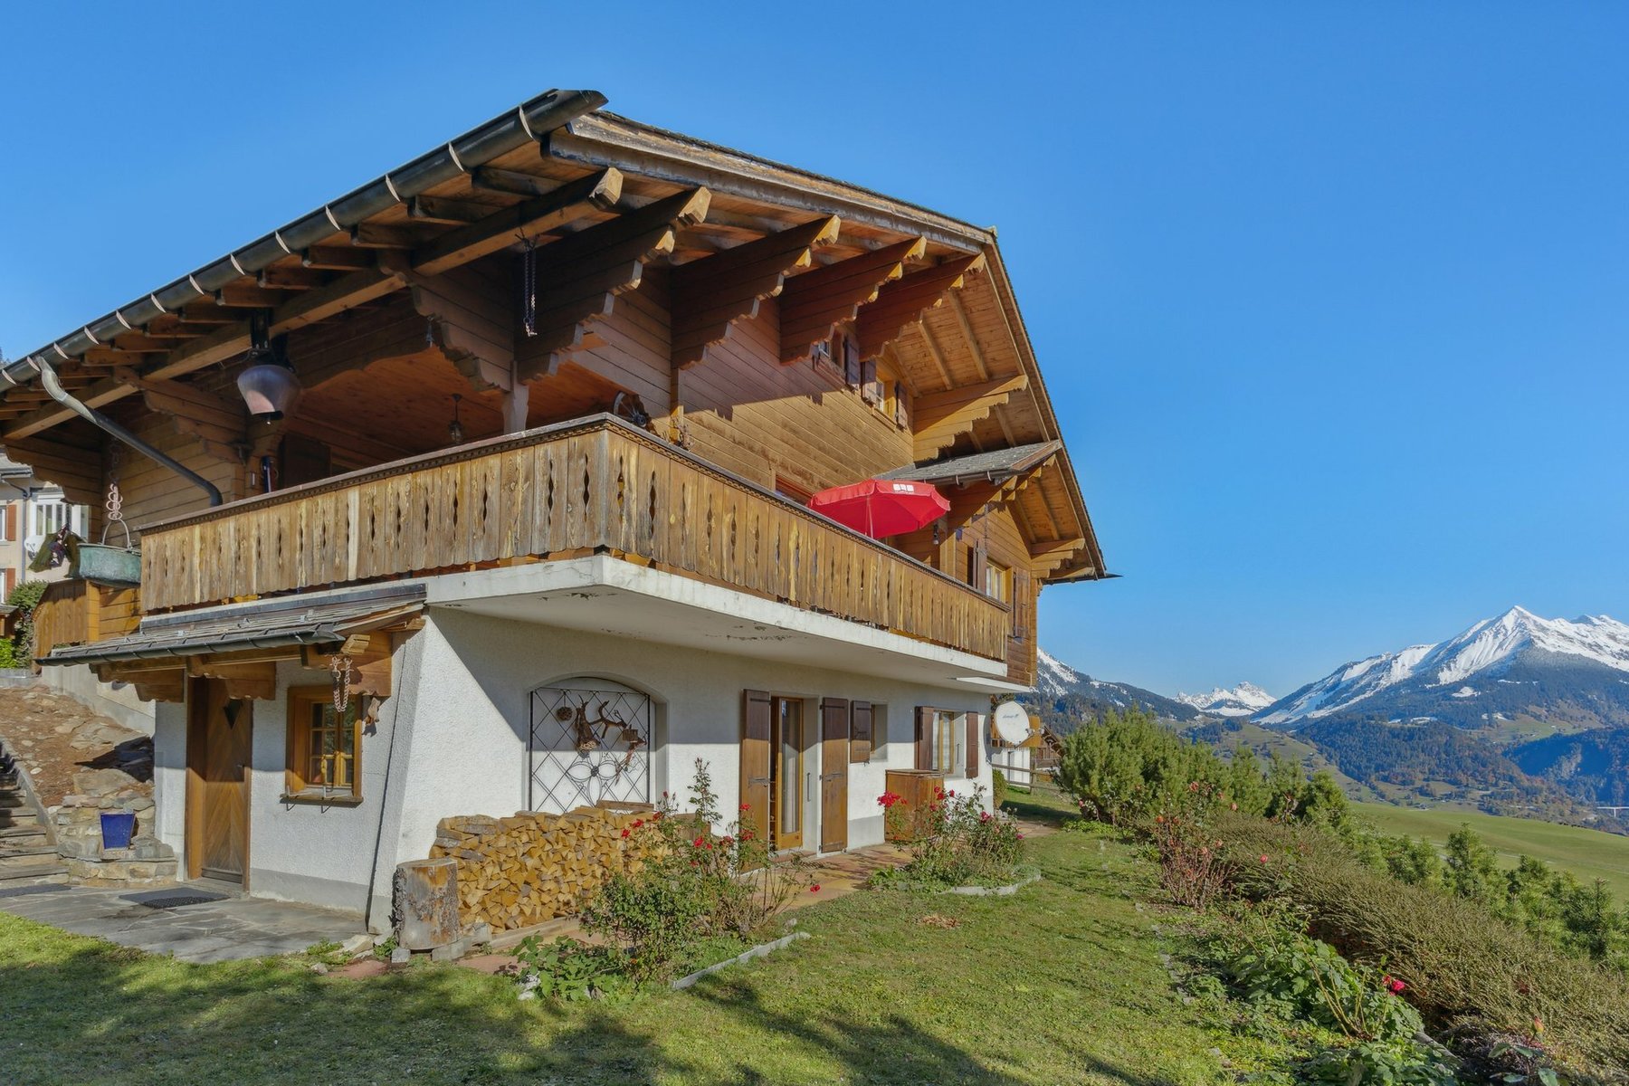
[[[508,819],[454,816],[437,824],[430,858],[458,861],[466,925],[526,928],[580,912],[613,874],[639,871],[660,842],[634,825],[650,814],[648,804],[616,804]]]

